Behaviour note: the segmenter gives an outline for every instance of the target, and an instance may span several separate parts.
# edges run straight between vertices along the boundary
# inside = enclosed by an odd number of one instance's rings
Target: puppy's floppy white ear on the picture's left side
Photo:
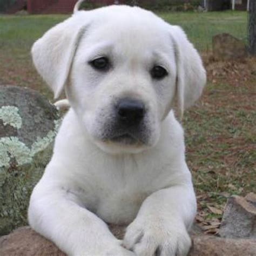
[[[68,79],[73,57],[86,28],[79,16],[74,15],[54,26],[32,46],[33,63],[52,89],[55,99]]]

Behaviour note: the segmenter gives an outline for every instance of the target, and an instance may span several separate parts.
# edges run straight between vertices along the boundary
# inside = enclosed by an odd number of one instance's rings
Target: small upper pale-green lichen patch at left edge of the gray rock
[[[2,106],[0,108],[0,119],[3,120],[3,124],[9,124],[12,127],[20,129],[22,126],[22,118],[18,111],[16,106]]]

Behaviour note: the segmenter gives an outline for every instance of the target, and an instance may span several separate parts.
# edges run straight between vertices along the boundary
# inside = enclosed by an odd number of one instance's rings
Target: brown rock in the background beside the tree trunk
[[[216,60],[242,59],[248,56],[245,43],[228,33],[212,38],[212,51]]]

